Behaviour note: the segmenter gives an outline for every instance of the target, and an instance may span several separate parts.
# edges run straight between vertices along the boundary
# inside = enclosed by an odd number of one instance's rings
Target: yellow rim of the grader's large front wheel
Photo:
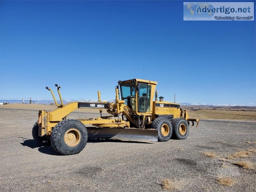
[[[64,142],[66,143],[66,145],[70,147],[74,147],[78,145],[80,140],[81,140],[80,131],[74,128],[67,130],[67,132],[64,135]]]

